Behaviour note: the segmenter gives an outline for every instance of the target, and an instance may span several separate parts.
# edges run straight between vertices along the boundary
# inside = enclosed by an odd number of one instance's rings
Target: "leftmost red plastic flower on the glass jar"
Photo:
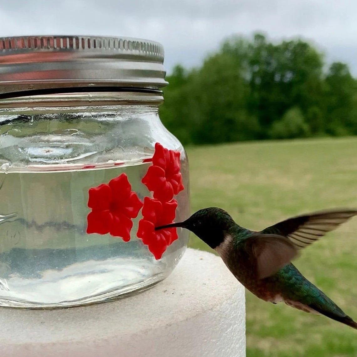
[[[135,218],[142,202],[125,174],[113,178],[109,184],[102,183],[89,189],[88,207],[92,211],[87,216],[87,233],[107,234],[130,240],[133,226],[131,218]]]

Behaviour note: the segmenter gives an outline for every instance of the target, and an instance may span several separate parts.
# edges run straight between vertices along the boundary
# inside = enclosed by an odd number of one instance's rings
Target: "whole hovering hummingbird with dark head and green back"
[[[313,212],[251,231],[238,225],[225,210],[209,207],[183,222],[155,230],[182,227],[195,233],[218,253],[237,280],[262,300],[285,302],[357,329],[357,322],[291,263],[300,250],[356,215],[353,209]]]

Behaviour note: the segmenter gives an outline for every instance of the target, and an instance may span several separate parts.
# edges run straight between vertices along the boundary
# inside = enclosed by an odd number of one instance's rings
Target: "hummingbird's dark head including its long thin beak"
[[[234,225],[233,218],[225,210],[210,207],[193,213],[186,221],[155,227],[155,230],[183,227],[214,249],[224,241],[227,232]]]

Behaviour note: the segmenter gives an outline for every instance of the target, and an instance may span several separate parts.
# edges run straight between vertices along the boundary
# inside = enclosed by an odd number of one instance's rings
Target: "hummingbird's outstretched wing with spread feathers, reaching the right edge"
[[[293,245],[301,249],[356,215],[357,210],[352,209],[314,212],[289,218],[265,228],[261,233],[285,236]]]

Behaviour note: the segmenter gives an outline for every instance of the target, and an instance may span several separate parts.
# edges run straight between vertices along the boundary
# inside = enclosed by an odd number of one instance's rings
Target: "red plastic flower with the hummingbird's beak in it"
[[[174,221],[176,207],[176,200],[160,202],[149,197],[144,198],[143,218],[139,221],[137,237],[149,247],[156,259],[160,259],[166,248],[178,238],[176,228],[155,231],[155,227]]]

